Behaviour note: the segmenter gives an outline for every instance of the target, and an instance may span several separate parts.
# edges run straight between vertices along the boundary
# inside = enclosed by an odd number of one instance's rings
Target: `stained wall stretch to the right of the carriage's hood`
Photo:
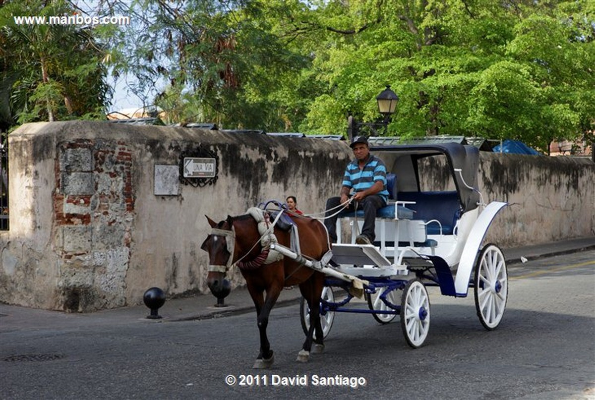
[[[479,189],[506,201],[486,240],[501,246],[595,236],[595,164],[588,158],[481,152]]]

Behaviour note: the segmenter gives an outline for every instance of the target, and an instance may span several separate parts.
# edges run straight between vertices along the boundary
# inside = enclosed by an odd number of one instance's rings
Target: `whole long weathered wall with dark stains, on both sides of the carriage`
[[[155,165],[175,170],[198,145],[218,155],[217,182],[155,195]],[[351,157],[345,143],[320,139],[80,121],[27,124],[9,146],[0,301],[67,311],[139,304],[151,286],[205,292],[205,214],[221,220],[287,195],[320,212]],[[486,201],[511,203],[487,240],[595,236],[589,160],[482,153],[479,186]],[[241,283],[237,272],[232,280]]]

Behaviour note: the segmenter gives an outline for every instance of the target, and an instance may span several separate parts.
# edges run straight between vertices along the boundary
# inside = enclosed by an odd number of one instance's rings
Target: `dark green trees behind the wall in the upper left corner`
[[[14,16],[72,15],[67,1],[4,1],[0,8],[2,130],[30,121],[105,118],[104,51],[87,27],[17,24]]]

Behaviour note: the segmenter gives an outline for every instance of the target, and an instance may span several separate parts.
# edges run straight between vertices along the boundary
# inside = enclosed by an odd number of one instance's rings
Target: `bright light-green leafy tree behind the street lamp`
[[[373,120],[385,83],[400,96],[390,133],[511,137],[546,149],[593,129],[595,20],[588,1],[328,2],[314,67],[328,92],[306,129]],[[327,12],[331,11],[331,14]]]

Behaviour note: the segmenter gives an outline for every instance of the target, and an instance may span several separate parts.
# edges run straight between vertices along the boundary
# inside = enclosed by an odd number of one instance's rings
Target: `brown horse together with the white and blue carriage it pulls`
[[[488,330],[499,325],[508,297],[506,264],[496,245],[481,245],[491,221],[506,203],[484,204],[477,190],[478,149],[444,143],[371,150],[390,171],[389,204],[378,210],[375,221],[377,242],[355,243],[362,211],[341,211],[339,240],[333,245],[328,243],[328,235],[321,236],[322,224],[309,218],[292,215],[299,235],[292,235],[292,229],[279,229],[277,224],[285,212],[265,212],[270,215],[268,221],[258,221],[266,217],[252,215],[261,230],[255,233],[252,227],[253,239],[246,243],[239,239],[240,230],[242,236],[248,236],[237,222],[240,217],[228,217],[219,224],[209,219],[213,230],[203,243],[212,265],[209,287],[213,290],[223,280],[226,268],[240,261],[248,289],[255,293],[261,330],[261,354],[255,367],[268,367],[273,361],[265,331],[268,312],[281,290],[278,286],[299,284],[304,296],[300,317],[306,341],[298,355],[300,361],[308,359],[312,343],[321,350],[337,312],[369,313],[380,323],[400,315],[407,343],[421,346],[430,328],[427,286],[439,286],[442,295],[455,297],[466,297],[469,287],[474,288],[481,324]],[[273,237],[265,237],[267,232],[274,232]],[[234,246],[230,248],[232,238]],[[259,269],[256,263],[242,269],[242,262],[249,262],[242,260],[262,261],[273,253],[283,255],[283,260],[278,258],[265,268]],[[264,283],[264,270],[275,262],[279,264],[278,277]],[[345,295],[336,300],[337,288]],[[262,297],[263,290],[267,299]],[[356,295],[365,296],[368,307],[352,307],[349,303]]]

